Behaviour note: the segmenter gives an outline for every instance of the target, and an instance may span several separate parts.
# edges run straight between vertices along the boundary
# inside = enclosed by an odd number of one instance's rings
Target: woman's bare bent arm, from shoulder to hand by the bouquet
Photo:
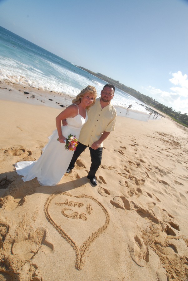
[[[62,135],[61,121],[66,118],[75,117],[78,114],[78,107],[76,105],[70,105],[65,110],[63,110],[56,117],[56,127],[59,136],[59,142],[65,143],[65,137]]]

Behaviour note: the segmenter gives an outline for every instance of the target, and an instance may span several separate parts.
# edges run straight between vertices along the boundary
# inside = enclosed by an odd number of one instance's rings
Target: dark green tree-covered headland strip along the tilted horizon
[[[123,84],[121,84],[119,81],[116,81],[112,78],[109,78],[101,73],[95,73],[93,71],[90,71],[84,67],[80,67],[83,70],[91,73],[92,75],[106,81],[107,83],[113,84],[118,89],[130,94],[131,96],[134,96],[137,100],[144,102],[147,105],[153,106],[154,108],[160,110],[161,112],[167,114],[168,116],[172,117],[173,120],[177,121],[178,123],[181,123],[182,125],[188,127],[188,115],[187,113],[181,114],[180,111],[176,112],[172,107],[164,106],[163,104],[159,103],[155,99],[145,96],[144,94],[141,94],[140,92],[136,91],[135,89],[132,89],[130,87],[127,87]]]

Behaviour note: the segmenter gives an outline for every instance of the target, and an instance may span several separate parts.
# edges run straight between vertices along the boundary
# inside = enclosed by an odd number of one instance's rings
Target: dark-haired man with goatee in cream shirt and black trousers
[[[101,165],[102,160],[102,142],[114,131],[116,122],[116,109],[111,104],[115,92],[115,86],[106,84],[102,91],[101,97],[96,99],[96,103],[88,111],[88,120],[81,129],[79,136],[79,145],[75,150],[71,163],[66,173],[74,168],[75,162],[80,154],[89,147],[92,164],[87,175],[92,185],[97,185],[95,174]],[[62,121],[63,126],[67,125]]]

